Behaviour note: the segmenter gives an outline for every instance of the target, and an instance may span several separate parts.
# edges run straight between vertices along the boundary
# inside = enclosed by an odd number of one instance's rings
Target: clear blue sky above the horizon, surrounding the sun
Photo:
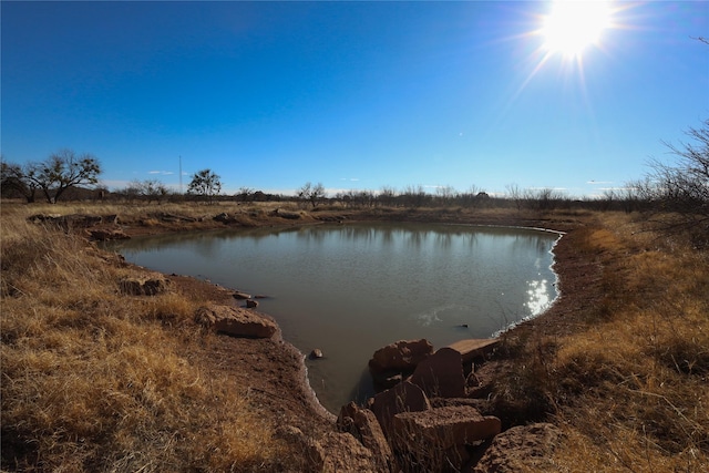
[[[224,191],[623,187],[709,117],[709,2],[610,2],[576,56],[551,2],[2,1],[1,151]]]

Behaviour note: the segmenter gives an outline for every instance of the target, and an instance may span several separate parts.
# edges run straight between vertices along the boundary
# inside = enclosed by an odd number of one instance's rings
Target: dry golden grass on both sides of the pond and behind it
[[[243,225],[261,225],[273,209],[3,205],[2,469],[278,471],[292,452],[264,421],[270,417],[181,356],[203,342],[188,323],[203,301],[122,295],[119,281],[135,269],[116,265],[80,233],[27,222],[39,213],[119,214],[135,228],[162,232],[174,225],[158,214],[229,212]],[[595,268],[587,290],[598,297],[577,307],[573,330],[507,335],[512,369],[500,376],[495,395],[526,397],[561,426],[565,441],[548,459],[554,471],[707,471],[707,251],[648,232],[637,214],[391,209],[376,217],[568,230],[569,254]]]

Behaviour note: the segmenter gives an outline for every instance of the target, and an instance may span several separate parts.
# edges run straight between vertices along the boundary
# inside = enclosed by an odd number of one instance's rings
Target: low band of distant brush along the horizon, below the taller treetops
[[[659,172],[659,171],[658,171]],[[297,195],[268,194],[261,191],[240,189],[233,195],[205,196],[171,192],[164,186],[132,185],[126,189],[85,188],[72,186],[64,191],[63,200],[94,200],[114,204],[151,204],[199,202],[290,203],[311,212],[325,209],[371,208],[448,208],[448,209],[510,209],[512,212],[546,213],[553,210],[626,212],[638,215],[653,229],[668,234],[684,234],[696,247],[709,247],[709,178],[687,178],[677,175],[676,168],[661,168],[664,179],[646,178],[620,191],[606,191],[600,196],[574,198],[563,192],[522,189],[507,186],[503,195],[491,195],[483,191],[455,192],[450,187],[436,193],[425,192],[423,186],[409,186],[401,192],[384,188],[380,192],[348,191],[328,196],[320,184],[304,186]],[[702,181],[703,179],[703,181]],[[27,195],[14,192],[12,186],[2,186],[3,198],[27,199]],[[39,192],[39,191],[38,191]],[[30,202],[29,199],[27,199]],[[33,200],[32,200],[33,202]]]

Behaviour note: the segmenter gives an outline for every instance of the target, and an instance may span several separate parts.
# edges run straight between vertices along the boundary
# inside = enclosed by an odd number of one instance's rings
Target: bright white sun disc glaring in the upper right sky
[[[610,8],[600,0],[557,0],[544,18],[542,34],[549,53],[577,58],[609,27]]]

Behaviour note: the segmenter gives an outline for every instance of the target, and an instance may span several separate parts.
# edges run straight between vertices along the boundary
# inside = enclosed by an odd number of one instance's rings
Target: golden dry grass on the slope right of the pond
[[[603,267],[600,307],[544,361],[567,439],[554,463],[569,472],[707,471],[708,255],[626,216],[600,222],[578,247]]]

